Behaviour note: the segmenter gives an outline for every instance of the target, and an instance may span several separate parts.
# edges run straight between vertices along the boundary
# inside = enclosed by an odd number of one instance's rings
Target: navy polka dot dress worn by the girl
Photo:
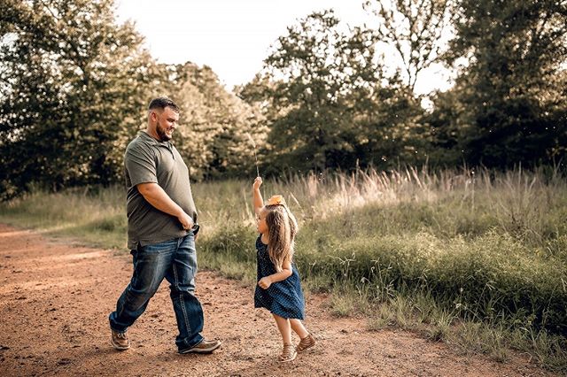
[[[269,259],[268,245],[261,242],[260,236],[256,240],[256,260],[258,262],[258,279],[256,282],[265,276],[276,273],[276,266]],[[268,289],[261,289],[256,285],[254,307],[266,308],[268,311],[287,319],[303,319],[305,301],[299,273],[294,264],[291,264],[291,270],[293,273],[289,278],[272,283]]]

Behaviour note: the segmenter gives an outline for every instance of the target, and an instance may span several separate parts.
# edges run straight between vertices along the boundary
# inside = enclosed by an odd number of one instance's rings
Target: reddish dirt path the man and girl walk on
[[[164,283],[131,327],[132,348],[114,351],[108,313],[128,284],[129,255],[49,240],[0,225],[0,375],[130,376],[517,376],[549,375],[523,358],[499,364],[466,358],[409,332],[369,332],[364,319],[334,319],[322,296],[307,300],[315,350],[288,365],[274,360],[279,337],[252,288],[200,272],[204,335],[223,341],[213,355],[178,355]]]

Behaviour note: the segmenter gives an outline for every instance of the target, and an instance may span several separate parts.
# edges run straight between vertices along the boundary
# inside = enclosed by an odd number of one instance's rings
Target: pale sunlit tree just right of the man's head
[[[167,95],[182,110],[181,137],[175,138],[175,145],[191,162],[191,176],[200,180],[252,172],[250,138],[259,143],[266,138],[266,130],[257,125],[257,112],[227,92],[208,66],[185,63],[162,69],[167,72]]]

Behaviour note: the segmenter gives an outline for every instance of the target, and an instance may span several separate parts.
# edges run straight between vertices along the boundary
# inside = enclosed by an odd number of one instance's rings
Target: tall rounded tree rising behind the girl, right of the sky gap
[[[315,12],[288,27],[265,69],[240,93],[260,103],[268,144],[294,170],[354,165],[353,93],[369,96],[380,80],[370,33],[346,30],[333,12]],[[352,98],[352,97],[351,97]]]

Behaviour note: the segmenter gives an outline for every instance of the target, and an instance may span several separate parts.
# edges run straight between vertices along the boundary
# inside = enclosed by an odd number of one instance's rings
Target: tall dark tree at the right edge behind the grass
[[[462,0],[447,61],[469,58],[457,88],[471,164],[559,158],[567,142],[567,2]]]

